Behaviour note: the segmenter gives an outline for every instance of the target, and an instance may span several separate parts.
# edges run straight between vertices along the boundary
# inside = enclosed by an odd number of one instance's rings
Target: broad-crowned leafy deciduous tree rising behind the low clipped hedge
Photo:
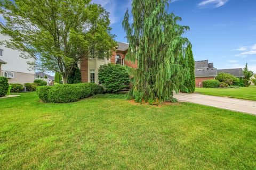
[[[0,0],[0,5],[6,21],[1,32],[11,37],[2,43],[37,56],[37,69],[61,73],[64,83],[83,58],[111,56],[109,13],[91,0]]]

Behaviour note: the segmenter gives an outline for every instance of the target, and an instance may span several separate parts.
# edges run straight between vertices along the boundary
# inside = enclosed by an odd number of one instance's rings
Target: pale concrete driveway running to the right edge
[[[229,97],[218,97],[201,94],[175,94],[179,101],[187,101],[206,106],[224,108],[236,112],[244,112],[256,115],[256,101],[235,99]]]

